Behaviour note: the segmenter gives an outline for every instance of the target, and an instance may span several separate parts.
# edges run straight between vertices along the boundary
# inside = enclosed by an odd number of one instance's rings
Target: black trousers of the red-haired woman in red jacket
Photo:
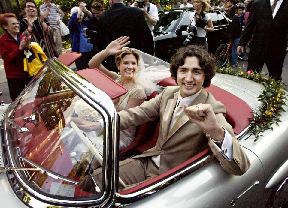
[[[7,79],[10,98],[14,101],[18,95],[23,91],[25,85],[27,85],[32,77],[29,78],[11,78]]]

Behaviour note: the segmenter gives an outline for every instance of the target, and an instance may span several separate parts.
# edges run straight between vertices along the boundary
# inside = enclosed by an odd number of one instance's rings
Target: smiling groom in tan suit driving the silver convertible
[[[119,163],[119,177],[127,188],[165,173],[208,146],[228,173],[242,175],[247,171],[250,161],[226,122],[224,105],[204,89],[215,71],[215,60],[202,47],[181,48],[170,66],[178,86],[168,86],[156,98],[119,112],[121,130],[160,117],[156,146]],[[100,188],[101,171],[99,168],[91,174]],[[84,181],[84,190],[95,192],[92,179]]]

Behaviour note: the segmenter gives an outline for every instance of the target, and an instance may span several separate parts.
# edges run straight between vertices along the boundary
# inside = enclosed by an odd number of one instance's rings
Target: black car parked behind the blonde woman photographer
[[[159,21],[154,27],[155,56],[169,61],[176,50],[183,46],[188,32],[189,16],[195,11],[190,8],[168,9],[159,12]],[[223,10],[209,11],[214,32],[207,32],[208,51],[214,53],[217,47],[228,43],[231,17]]]

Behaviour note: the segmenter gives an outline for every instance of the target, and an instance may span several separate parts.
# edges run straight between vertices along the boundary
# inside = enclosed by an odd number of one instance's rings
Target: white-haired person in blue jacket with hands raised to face
[[[83,10],[85,7],[86,3],[81,2],[79,7],[73,7],[71,9],[68,25],[71,36],[72,51],[80,52],[82,54],[82,56],[75,62],[78,70],[88,68],[88,62],[92,58],[90,51],[93,48],[93,44],[88,43],[88,38],[84,35],[84,33],[87,33],[85,30],[87,29],[86,24],[89,21],[89,19],[83,20]]]

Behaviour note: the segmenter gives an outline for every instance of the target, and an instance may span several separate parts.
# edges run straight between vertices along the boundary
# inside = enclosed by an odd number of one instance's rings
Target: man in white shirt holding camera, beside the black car
[[[159,20],[157,6],[150,3],[148,0],[136,0],[131,6],[138,7],[143,11],[144,17],[149,22],[151,34],[154,36],[152,31]]]

